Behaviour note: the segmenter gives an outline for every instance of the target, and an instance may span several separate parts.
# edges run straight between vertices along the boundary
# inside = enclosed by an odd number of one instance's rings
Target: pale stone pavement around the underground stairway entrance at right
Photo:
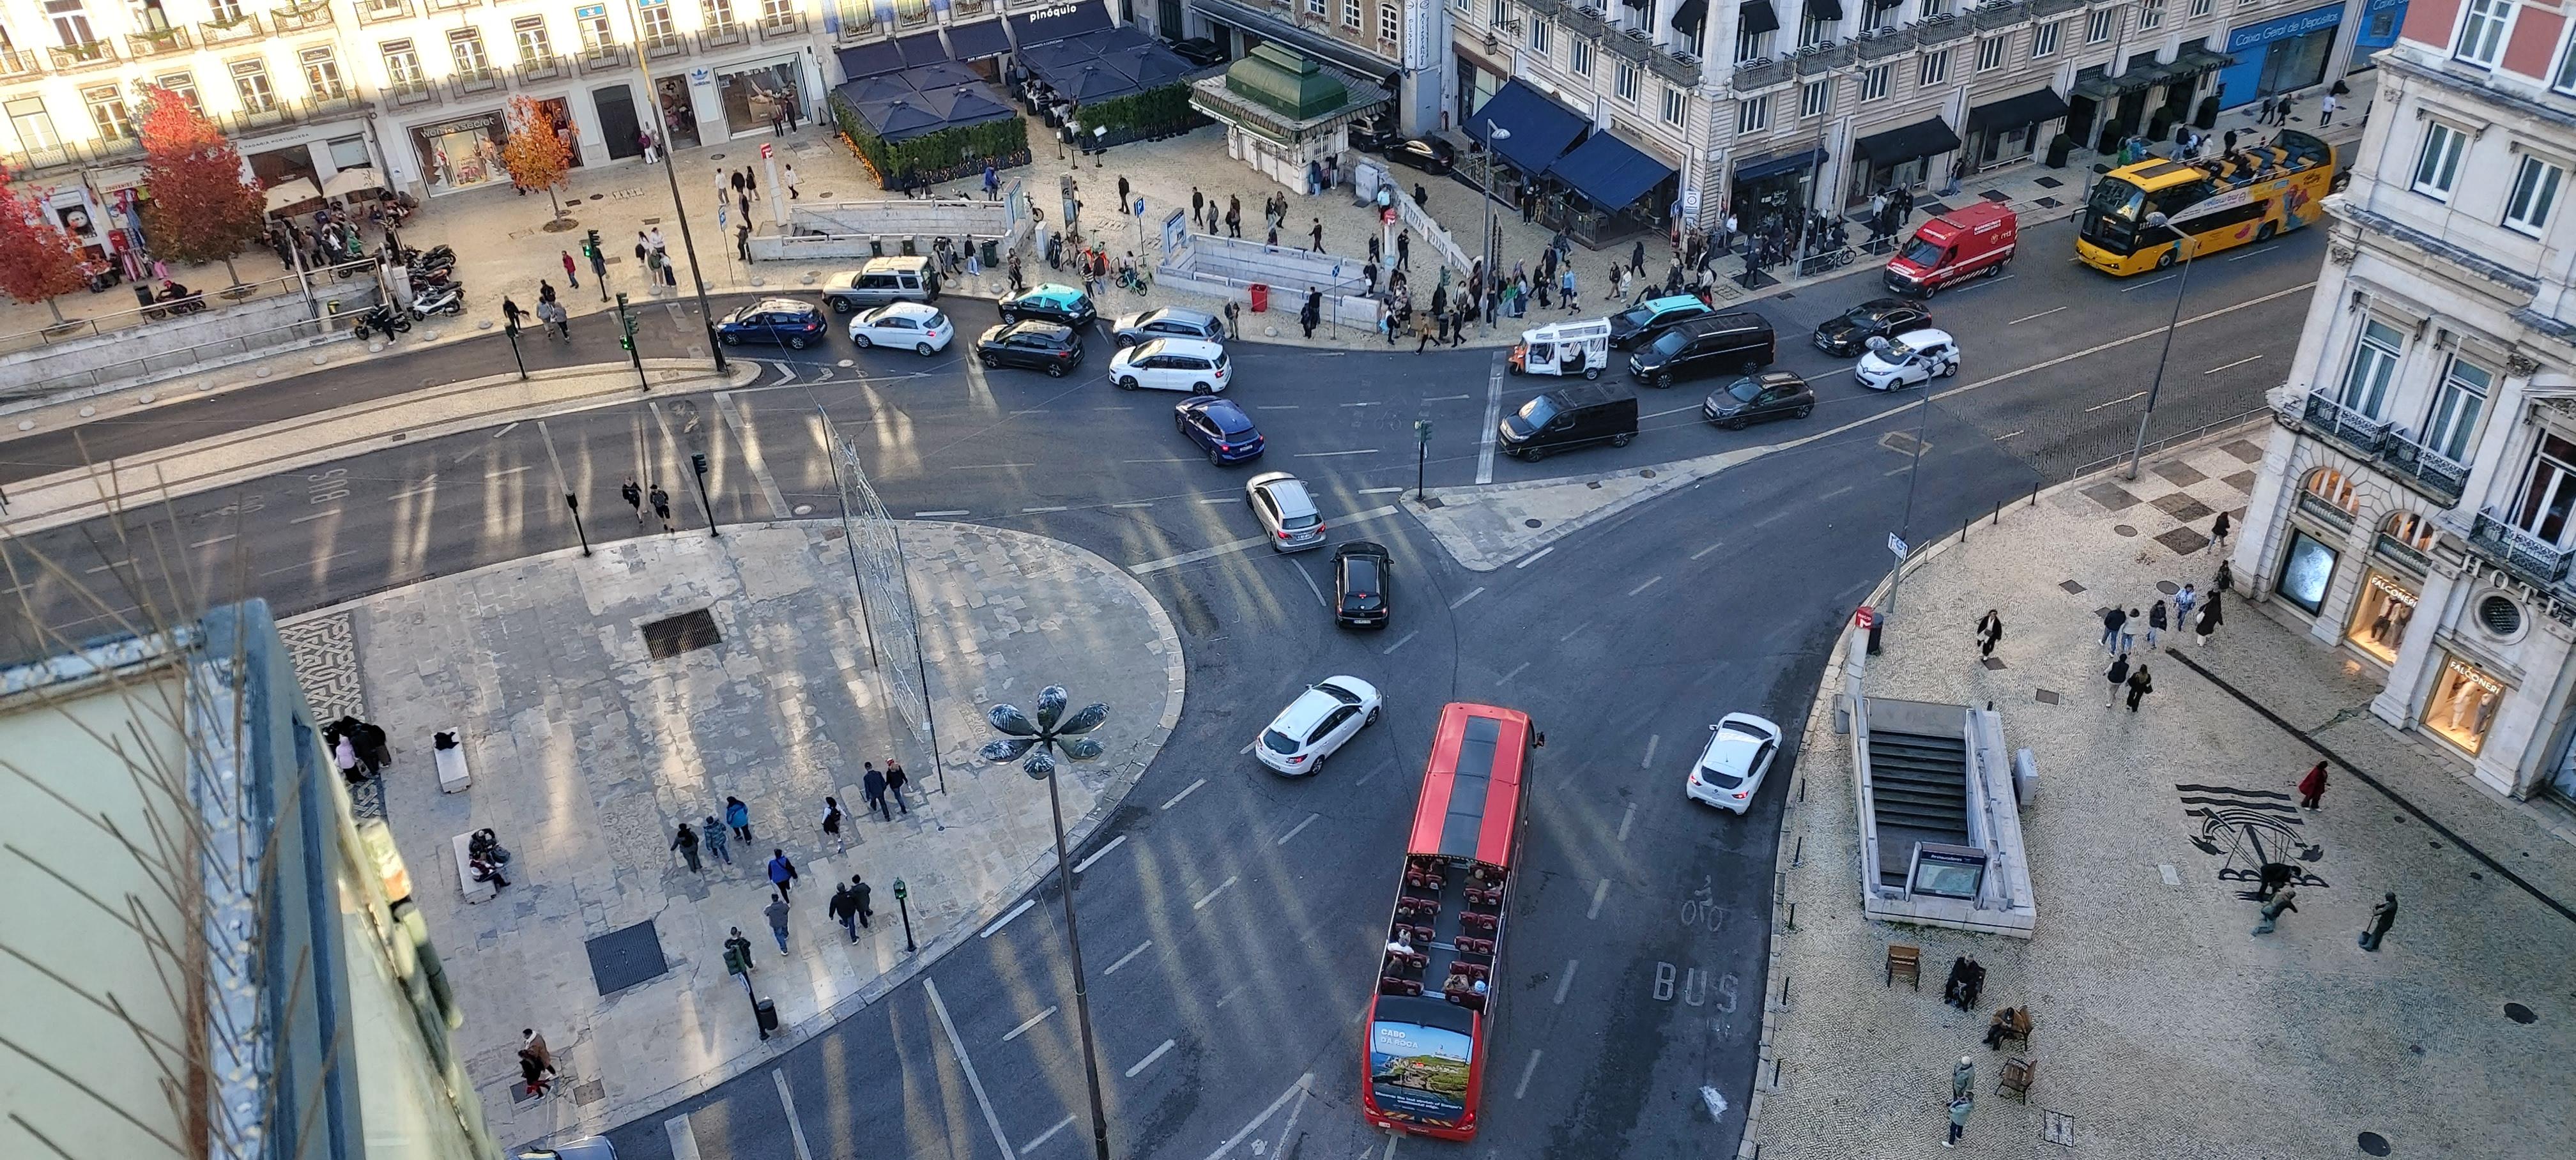
[[[2035,938],[1860,918],[1847,737],[1819,696],[1783,822],[1795,925],[1780,915],[1772,931],[1747,1155],[1935,1155],[1960,1054],[1978,1067],[1963,1155],[2566,1155],[2576,1101],[2553,1062],[2576,1052],[2576,923],[2499,874],[2576,900],[2576,848],[2550,830],[2553,807],[2481,799],[2458,760],[2339,714],[2367,704],[2352,655],[2251,603],[2231,603],[2205,650],[2166,637],[2136,717],[2102,706],[2097,608],[2146,606],[2159,583],[2208,585],[2205,528],[2244,503],[2259,438],[2179,449],[2136,482],[2061,487],[1909,575],[1870,696],[1991,701],[2007,745],[2032,750]],[[1976,662],[1986,608],[2004,616],[2002,668]],[[2365,760],[2388,791],[2339,776],[2321,812],[2295,809],[2293,781],[2316,753],[2174,652]],[[2228,804],[2280,815],[2300,843],[2298,913],[2262,938],[2233,876],[2241,851],[2202,830]],[[2385,949],[2365,954],[2354,936],[2385,889],[2403,910]],[[1891,943],[1922,946],[1922,990],[1883,982]],[[1960,954],[1989,969],[1984,1010],[1940,1000]],[[1989,1052],[1981,1034],[1991,1008],[2025,1003],[2038,1083],[2017,1103],[1994,1083],[2022,1052]]]

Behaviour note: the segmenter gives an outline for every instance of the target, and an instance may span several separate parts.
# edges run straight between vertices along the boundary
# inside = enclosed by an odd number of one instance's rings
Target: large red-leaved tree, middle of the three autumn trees
[[[206,113],[160,85],[144,88],[144,242],[167,263],[224,263],[268,227],[268,193],[245,178],[234,150]]]

